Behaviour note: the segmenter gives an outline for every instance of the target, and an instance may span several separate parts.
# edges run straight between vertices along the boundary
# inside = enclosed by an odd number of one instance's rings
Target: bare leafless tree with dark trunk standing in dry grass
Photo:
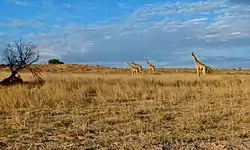
[[[11,74],[0,84],[13,84],[14,82],[22,82],[20,77],[16,77],[18,72],[24,68],[28,68],[31,64],[39,60],[39,52],[37,46],[33,43],[25,43],[23,40],[8,43],[3,53],[3,61],[10,68]]]

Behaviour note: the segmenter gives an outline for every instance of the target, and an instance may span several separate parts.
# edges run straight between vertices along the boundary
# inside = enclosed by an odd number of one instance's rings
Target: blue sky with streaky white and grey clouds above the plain
[[[250,0],[1,0],[0,52],[23,38],[41,62],[250,68]]]

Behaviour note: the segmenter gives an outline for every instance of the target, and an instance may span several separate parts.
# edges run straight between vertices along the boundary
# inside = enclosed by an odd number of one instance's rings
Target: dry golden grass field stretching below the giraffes
[[[250,149],[250,71],[65,66],[0,87],[0,149]]]

